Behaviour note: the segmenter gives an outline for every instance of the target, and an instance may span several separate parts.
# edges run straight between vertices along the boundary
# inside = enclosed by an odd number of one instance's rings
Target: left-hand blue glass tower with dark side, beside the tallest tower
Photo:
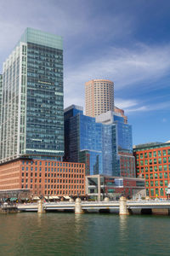
[[[103,172],[102,124],[75,105],[65,109],[65,160],[85,162],[87,174]]]

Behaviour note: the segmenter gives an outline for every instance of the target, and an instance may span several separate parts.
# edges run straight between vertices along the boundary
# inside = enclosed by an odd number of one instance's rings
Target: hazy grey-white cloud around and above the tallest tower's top
[[[77,49],[84,55],[87,46],[95,48],[94,44],[99,44],[101,39],[123,38],[133,31],[133,18],[129,14],[102,13],[101,17],[95,3],[87,1],[1,0],[0,9],[0,63],[7,58],[27,26],[63,36],[68,54],[65,60],[70,59],[72,65]]]

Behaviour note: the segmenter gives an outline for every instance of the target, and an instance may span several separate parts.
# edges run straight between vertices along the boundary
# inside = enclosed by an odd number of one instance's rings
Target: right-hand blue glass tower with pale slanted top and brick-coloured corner
[[[96,117],[103,124],[103,170],[106,175],[135,177],[132,126],[119,113]]]

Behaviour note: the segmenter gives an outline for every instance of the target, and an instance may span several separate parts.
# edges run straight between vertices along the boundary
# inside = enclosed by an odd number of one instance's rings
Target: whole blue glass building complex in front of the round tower
[[[135,177],[132,127],[118,113],[93,118],[65,109],[65,160],[86,164],[86,174]]]

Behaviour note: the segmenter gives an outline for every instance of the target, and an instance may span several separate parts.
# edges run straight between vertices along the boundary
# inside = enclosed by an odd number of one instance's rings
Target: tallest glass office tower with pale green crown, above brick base
[[[1,162],[20,156],[62,160],[62,38],[27,28],[3,63]]]

